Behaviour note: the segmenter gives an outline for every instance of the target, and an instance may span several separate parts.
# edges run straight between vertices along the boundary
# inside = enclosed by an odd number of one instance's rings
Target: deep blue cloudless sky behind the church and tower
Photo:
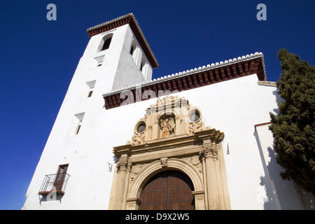
[[[57,21],[46,19],[48,3]],[[258,3],[267,6],[266,21],[256,19]],[[267,80],[276,81],[279,48],[315,64],[314,9],[314,0],[1,0],[0,209],[25,202],[87,28],[134,13],[160,64],[153,78],[262,52]]]

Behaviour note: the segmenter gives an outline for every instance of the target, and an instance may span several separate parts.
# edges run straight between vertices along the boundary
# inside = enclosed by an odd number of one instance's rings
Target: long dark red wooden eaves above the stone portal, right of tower
[[[148,83],[146,85],[133,87],[120,92],[113,92],[113,94],[106,94],[104,95],[105,107],[106,109],[116,108],[121,106],[125,100],[128,100],[128,104],[130,104],[146,99],[151,99],[152,96],[141,97],[146,90],[155,92],[155,97],[162,97],[159,90],[162,90],[163,92],[166,90],[169,90],[170,92],[175,90],[182,92],[185,90],[191,90],[197,87],[220,83],[225,80],[231,80],[252,74],[257,74],[258,80],[265,80],[265,71],[262,57],[254,57],[253,59],[218,66],[213,69],[196,71],[193,73],[188,73],[185,76],[174,76],[173,78],[167,78],[166,80]],[[122,94],[123,99],[120,99],[121,92],[127,92],[127,96],[126,94]],[[166,94],[167,92],[165,95]],[[139,99],[140,97],[142,99]]]

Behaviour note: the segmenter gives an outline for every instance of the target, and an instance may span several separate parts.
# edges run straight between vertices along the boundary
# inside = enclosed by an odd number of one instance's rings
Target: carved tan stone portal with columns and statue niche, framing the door
[[[204,126],[201,111],[185,98],[158,99],[134,127],[130,144],[113,149],[119,161],[109,209],[139,209],[146,182],[169,169],[192,180],[195,209],[230,209],[223,137]]]

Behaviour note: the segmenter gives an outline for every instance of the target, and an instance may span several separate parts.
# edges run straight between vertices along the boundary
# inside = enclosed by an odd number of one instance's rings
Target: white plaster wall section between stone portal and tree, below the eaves
[[[187,92],[207,126],[225,133],[223,152],[232,209],[264,209],[260,181],[265,176],[254,125],[269,122],[277,108],[276,88],[257,84],[256,75],[228,80]],[[229,154],[227,154],[229,146]]]

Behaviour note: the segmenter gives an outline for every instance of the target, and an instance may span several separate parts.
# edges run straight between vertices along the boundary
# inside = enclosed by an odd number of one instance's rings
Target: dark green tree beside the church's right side
[[[315,196],[315,67],[300,57],[280,49],[282,74],[277,87],[280,97],[279,116],[270,113],[276,162],[292,179]]]

